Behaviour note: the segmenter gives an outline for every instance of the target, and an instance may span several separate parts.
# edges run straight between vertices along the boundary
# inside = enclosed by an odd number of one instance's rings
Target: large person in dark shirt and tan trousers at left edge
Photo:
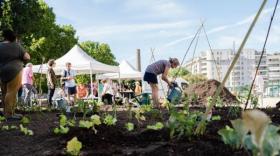
[[[16,96],[21,86],[23,62],[30,55],[16,42],[16,35],[11,30],[4,30],[4,41],[0,43],[0,84],[4,115],[9,118],[20,118],[15,114]]]

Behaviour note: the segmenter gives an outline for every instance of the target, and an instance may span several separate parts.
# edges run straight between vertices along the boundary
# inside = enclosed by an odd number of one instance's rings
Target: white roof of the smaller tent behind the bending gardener
[[[112,79],[112,80],[125,80],[125,79],[131,79],[131,80],[141,80],[142,79],[142,73],[140,71],[137,71],[134,69],[134,67],[128,63],[126,60],[123,60],[121,64],[119,65],[120,68],[120,75],[118,73],[106,73],[102,75],[98,75],[97,79]]]

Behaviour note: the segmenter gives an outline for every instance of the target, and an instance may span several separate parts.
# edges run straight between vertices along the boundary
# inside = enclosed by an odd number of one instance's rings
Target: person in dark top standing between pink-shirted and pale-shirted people
[[[49,60],[47,71],[47,83],[48,83],[48,103],[49,107],[52,107],[52,97],[56,87],[56,76],[53,68],[55,67],[54,59]]]

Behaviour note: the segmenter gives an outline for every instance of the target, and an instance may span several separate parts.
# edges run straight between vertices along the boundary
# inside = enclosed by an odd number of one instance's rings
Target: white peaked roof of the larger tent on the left
[[[111,73],[119,72],[118,66],[111,66],[96,61],[86,52],[84,52],[78,45],[75,45],[65,55],[55,60],[56,74],[60,74],[65,69],[65,63],[70,62],[72,68],[77,71],[78,74],[89,74],[92,73]],[[47,64],[33,66],[33,72],[35,73],[46,73]]]

